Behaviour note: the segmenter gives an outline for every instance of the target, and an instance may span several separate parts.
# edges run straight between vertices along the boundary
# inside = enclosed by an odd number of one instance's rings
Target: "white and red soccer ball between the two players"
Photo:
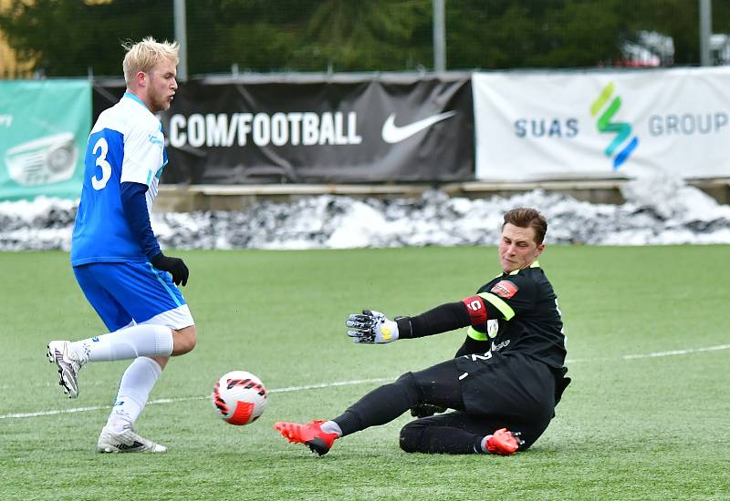
[[[266,409],[266,388],[254,374],[224,373],[211,395],[215,413],[230,424],[253,423]]]

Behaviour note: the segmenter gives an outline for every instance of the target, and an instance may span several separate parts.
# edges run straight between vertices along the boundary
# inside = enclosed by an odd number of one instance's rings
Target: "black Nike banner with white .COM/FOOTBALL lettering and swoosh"
[[[165,182],[474,179],[467,74],[232,78],[180,85]]]

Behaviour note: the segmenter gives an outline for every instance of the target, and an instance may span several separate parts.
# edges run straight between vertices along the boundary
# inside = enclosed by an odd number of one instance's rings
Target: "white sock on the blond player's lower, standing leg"
[[[107,420],[112,430],[120,432],[125,424],[137,421],[161,373],[162,367],[151,358],[140,357],[130,363],[121,376],[117,400]]]

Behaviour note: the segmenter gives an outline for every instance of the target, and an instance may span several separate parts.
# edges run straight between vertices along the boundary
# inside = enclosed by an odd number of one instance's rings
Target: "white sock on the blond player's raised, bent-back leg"
[[[70,343],[71,350],[82,363],[129,360],[141,356],[170,356],[172,330],[163,325],[133,325]]]

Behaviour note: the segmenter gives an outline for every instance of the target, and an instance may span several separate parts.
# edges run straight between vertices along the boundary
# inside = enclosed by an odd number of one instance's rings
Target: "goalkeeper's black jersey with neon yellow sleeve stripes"
[[[457,356],[516,352],[558,370],[563,367],[565,335],[558,298],[537,261],[488,281],[477,294],[485,300],[487,320],[469,327]]]

